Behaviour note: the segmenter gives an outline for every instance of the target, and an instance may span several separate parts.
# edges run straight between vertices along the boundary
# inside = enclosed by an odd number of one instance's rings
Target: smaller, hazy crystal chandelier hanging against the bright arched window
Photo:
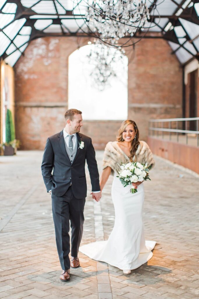
[[[117,77],[117,65],[124,58],[124,50],[107,47],[99,42],[95,42],[90,53],[87,55],[89,65],[93,65],[90,72],[92,86],[99,91],[111,86],[111,80]]]

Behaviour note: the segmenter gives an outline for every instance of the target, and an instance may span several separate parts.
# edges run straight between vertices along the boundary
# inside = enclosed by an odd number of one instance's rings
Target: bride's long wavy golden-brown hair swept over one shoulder
[[[129,160],[132,161],[133,157],[135,156],[135,152],[136,150],[138,149],[138,145],[140,144],[140,141],[139,141],[139,136],[140,136],[140,132],[138,130],[138,127],[135,123],[135,121],[133,120],[124,120],[123,123],[121,124],[120,128],[119,128],[119,135],[117,136],[117,141],[118,142],[122,142],[124,139],[122,137],[122,133],[124,132],[124,130],[127,128],[128,125],[132,124],[133,125],[133,128],[136,132],[136,138],[135,140],[133,139],[132,142],[131,142],[131,148],[130,148],[130,156],[129,156]],[[136,159],[136,157],[135,157]]]

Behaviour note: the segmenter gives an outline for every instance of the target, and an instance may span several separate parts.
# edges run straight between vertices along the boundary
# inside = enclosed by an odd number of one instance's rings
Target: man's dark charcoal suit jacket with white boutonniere
[[[77,133],[78,147],[84,141],[84,148],[77,149],[71,163],[65,148],[63,131],[47,139],[41,164],[42,176],[47,192],[52,190],[56,196],[62,196],[72,183],[72,192],[77,199],[87,196],[85,162],[90,173],[92,191],[99,191],[99,173],[95,159],[95,150],[90,137]],[[52,174],[53,170],[53,174]]]

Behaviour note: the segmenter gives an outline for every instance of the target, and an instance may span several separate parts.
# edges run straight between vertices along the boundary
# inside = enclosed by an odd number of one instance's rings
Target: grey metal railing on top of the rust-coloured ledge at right
[[[188,144],[189,137],[195,137],[197,146],[199,146],[199,117],[195,118],[164,118],[149,120],[149,136],[155,136],[164,139],[169,137],[172,140],[172,133],[176,133],[176,141],[179,137],[186,139]],[[168,134],[166,134],[166,132]]]

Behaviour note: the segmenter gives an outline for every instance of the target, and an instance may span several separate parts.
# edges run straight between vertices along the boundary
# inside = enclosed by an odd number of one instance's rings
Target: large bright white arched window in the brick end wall
[[[100,91],[96,85],[93,86],[90,74],[94,66],[87,58],[93,47],[83,46],[69,57],[68,108],[81,110],[85,120],[127,119],[128,58],[123,56],[118,60],[116,76],[110,80],[108,87]]]

